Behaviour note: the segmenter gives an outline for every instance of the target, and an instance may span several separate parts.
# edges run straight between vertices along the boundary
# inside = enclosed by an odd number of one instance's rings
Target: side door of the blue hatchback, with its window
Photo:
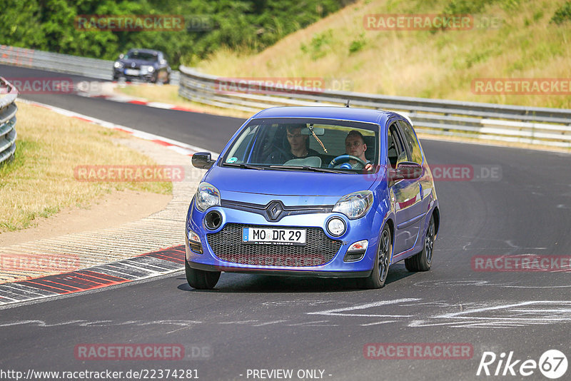
[[[397,119],[388,122],[388,139],[392,140],[397,155],[396,164],[402,161],[413,161],[403,131]],[[392,151],[388,147],[387,152]],[[391,158],[388,157],[388,162]],[[393,162],[394,162],[394,158]],[[413,248],[422,220],[422,192],[418,179],[403,178],[395,181],[389,188],[390,199],[395,210],[395,256]]]

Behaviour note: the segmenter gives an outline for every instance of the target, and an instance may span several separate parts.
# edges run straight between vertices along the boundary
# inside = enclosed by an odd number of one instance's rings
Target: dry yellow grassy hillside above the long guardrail
[[[349,78],[366,93],[571,108],[570,95],[479,95],[471,88],[475,78],[571,78],[569,22],[550,23],[564,2],[502,1],[482,10],[502,20],[499,29],[431,32],[365,31],[363,16],[435,14],[450,1],[359,1],[259,54],[221,50],[199,68],[219,76]],[[363,48],[350,53],[359,42]]]

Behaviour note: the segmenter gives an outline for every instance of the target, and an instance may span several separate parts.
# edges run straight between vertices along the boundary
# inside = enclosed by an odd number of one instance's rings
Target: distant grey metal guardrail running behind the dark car
[[[26,66],[58,73],[76,74],[89,78],[113,79],[113,62],[104,59],[90,59],[69,54],[51,53],[35,49],[0,45],[0,63]],[[171,84],[178,85],[180,73],[171,71]]]

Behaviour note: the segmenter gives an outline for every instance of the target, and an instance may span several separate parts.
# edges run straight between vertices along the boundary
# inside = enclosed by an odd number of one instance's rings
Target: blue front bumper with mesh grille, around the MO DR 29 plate
[[[222,216],[223,222],[215,230],[208,230],[204,223],[204,216],[211,210]],[[338,238],[325,228],[333,216],[342,218],[347,226],[345,233]],[[207,271],[323,278],[367,277],[373,269],[381,223],[375,218],[374,210],[358,220],[328,212],[293,214],[273,223],[261,214],[235,208],[217,206],[202,213],[194,208],[192,202],[186,220],[186,260],[191,268]],[[241,242],[241,228],[248,226],[305,228],[307,243],[304,247],[245,244]],[[198,253],[196,247],[191,250],[188,241],[190,230],[198,234],[203,253]],[[368,240],[368,248],[363,258],[348,262],[345,254],[349,246],[364,239]]]

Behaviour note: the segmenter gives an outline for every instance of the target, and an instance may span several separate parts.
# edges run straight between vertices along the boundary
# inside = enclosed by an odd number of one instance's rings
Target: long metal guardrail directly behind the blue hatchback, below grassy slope
[[[181,66],[178,94],[191,101],[257,112],[271,106],[350,106],[398,111],[408,116],[419,133],[487,140],[540,144],[571,149],[571,110],[532,108],[494,103],[446,101],[403,96],[383,96],[348,91],[284,91],[264,86],[268,95],[221,91],[220,83],[243,88],[238,79],[220,78]]]

